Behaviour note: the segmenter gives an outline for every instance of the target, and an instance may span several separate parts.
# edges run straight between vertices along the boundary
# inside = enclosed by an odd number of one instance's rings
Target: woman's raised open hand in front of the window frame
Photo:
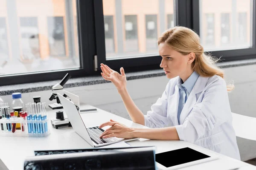
[[[126,88],[126,76],[124,68],[120,68],[121,75],[108,67],[108,65],[101,64],[100,68],[102,69],[101,75],[105,80],[113,82],[117,90],[123,90]]]

